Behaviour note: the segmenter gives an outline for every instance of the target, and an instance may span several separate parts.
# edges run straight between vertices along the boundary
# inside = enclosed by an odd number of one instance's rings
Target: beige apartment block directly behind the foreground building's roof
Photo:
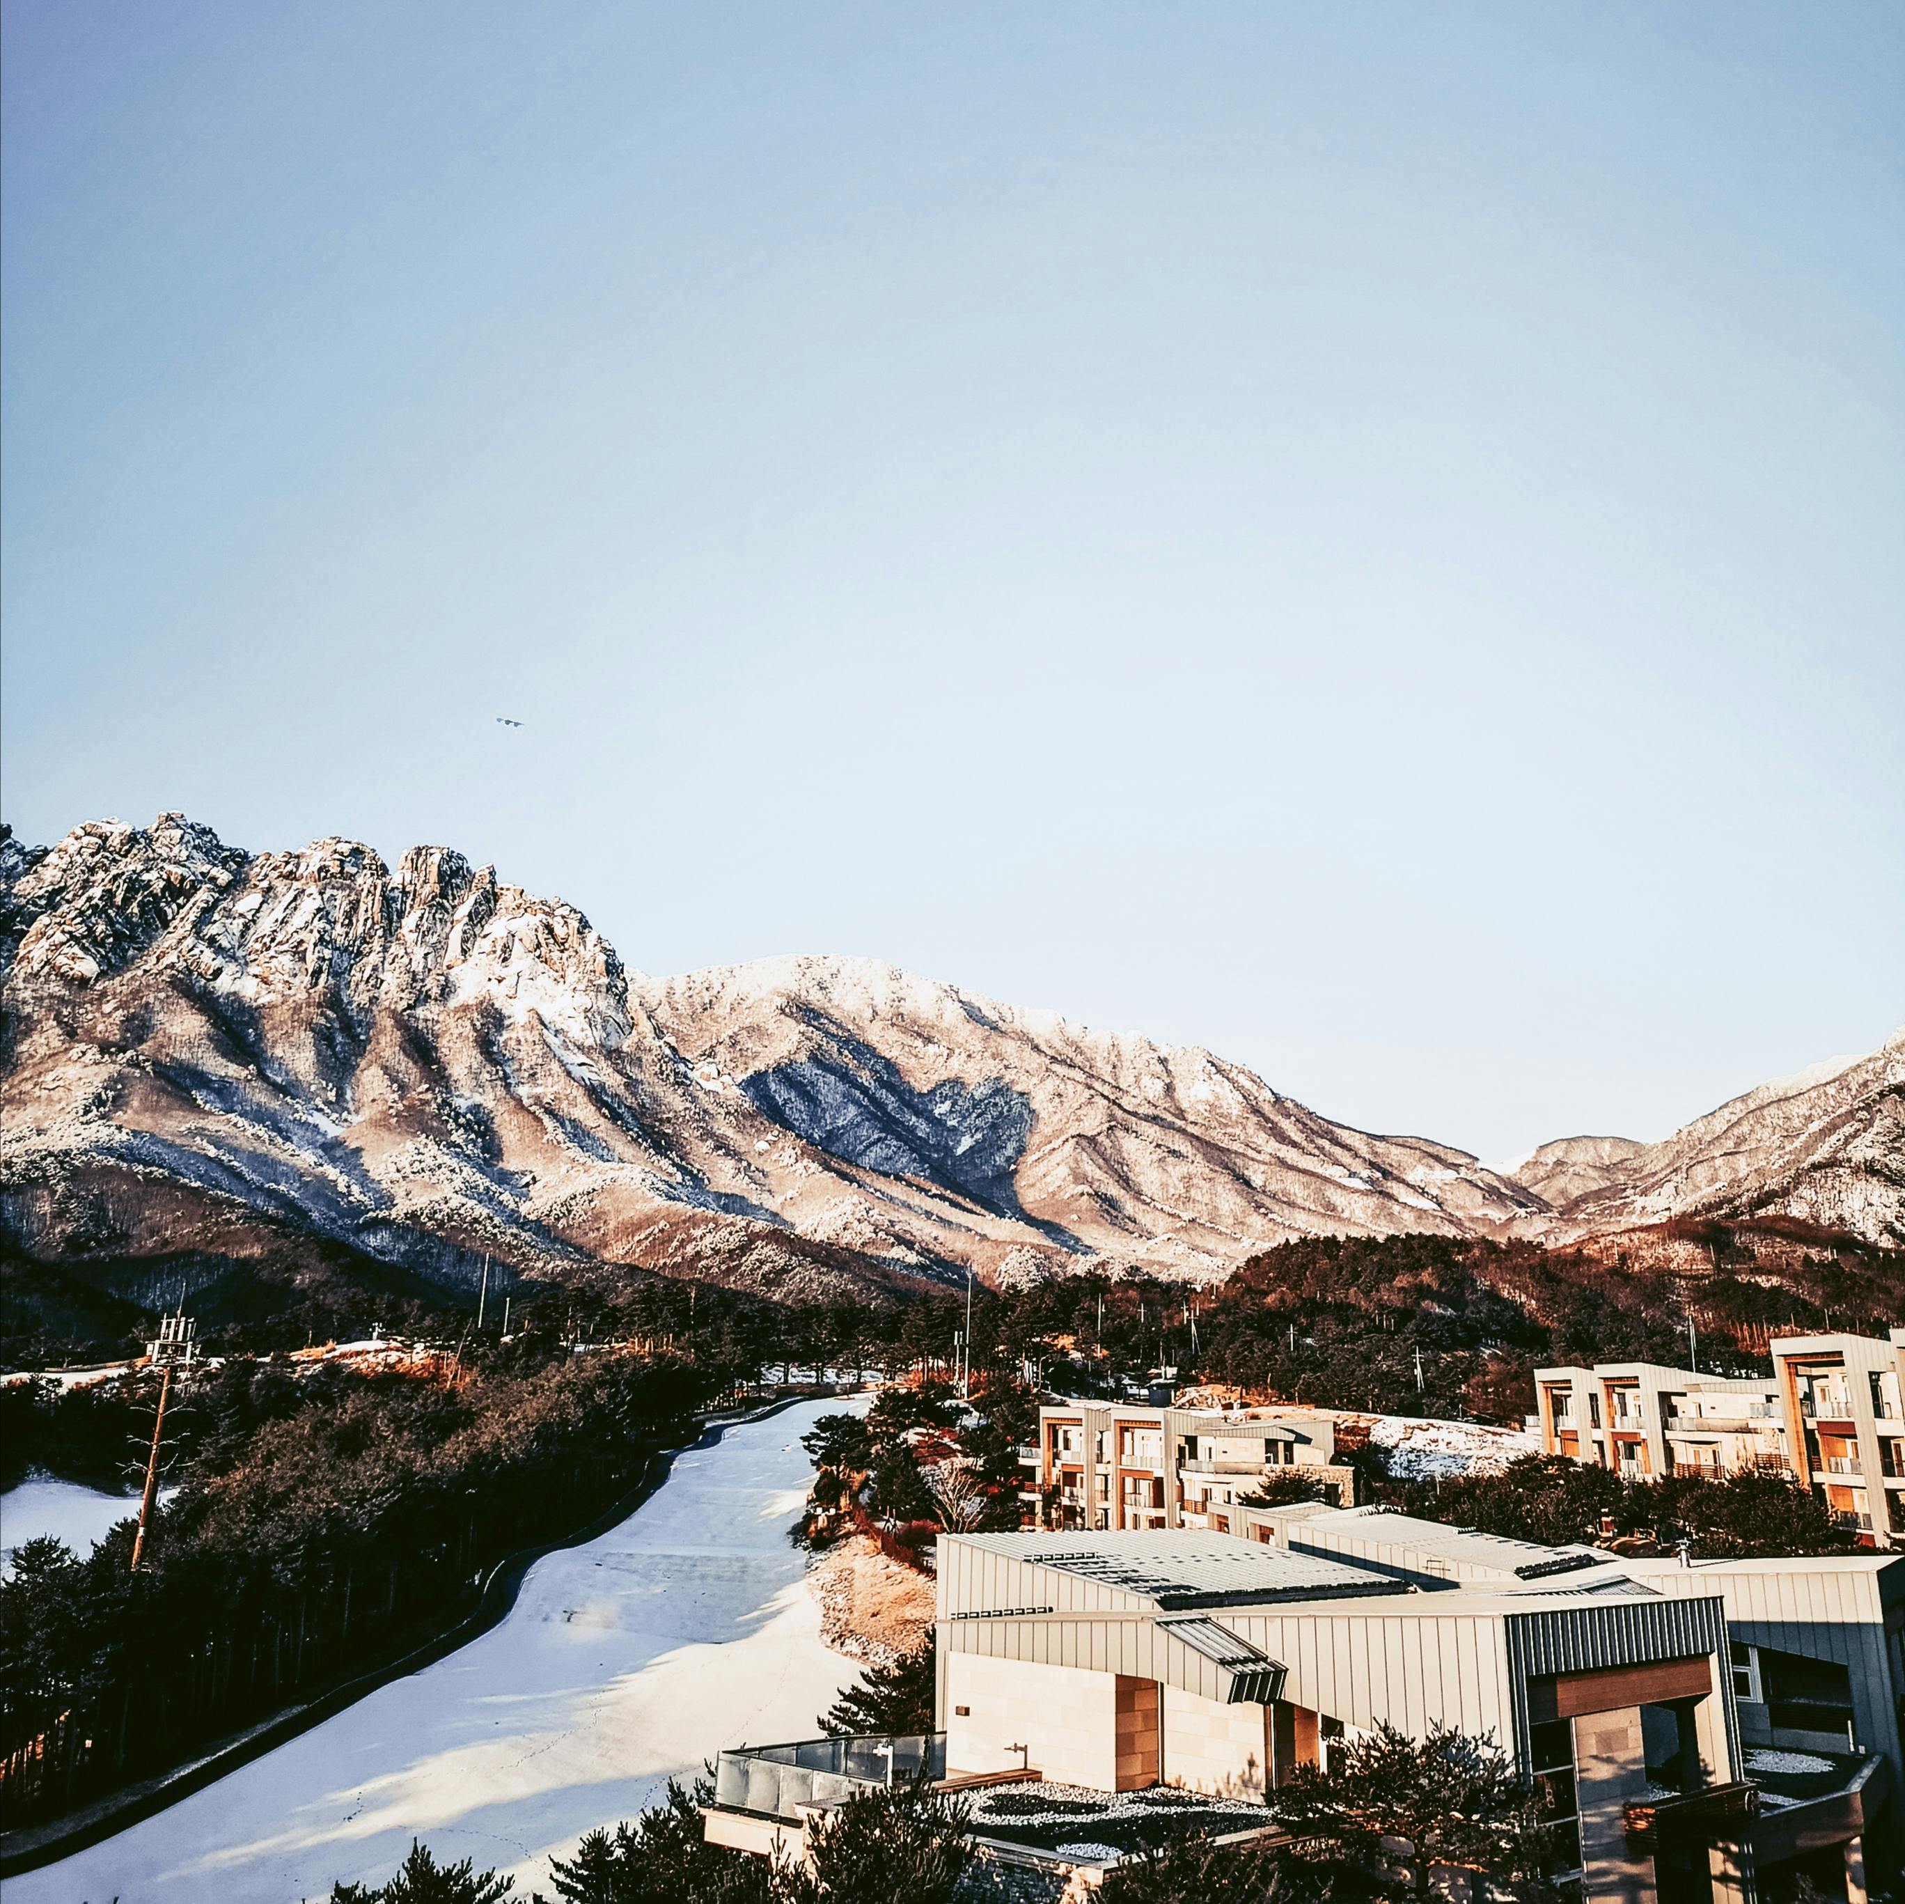
[[[1330,1416],[1099,1401],[1038,1410],[1044,1519],[1059,1529],[1233,1532],[1238,1500],[1292,1468],[1354,1502],[1356,1469],[1335,1464]]]

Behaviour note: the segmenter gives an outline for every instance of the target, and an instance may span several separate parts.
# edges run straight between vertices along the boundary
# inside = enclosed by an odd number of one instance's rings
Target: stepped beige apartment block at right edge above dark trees
[[[1657,1363],[1537,1368],[1541,1447],[1634,1479],[1783,1468],[1873,1546],[1905,1546],[1905,1328],[1777,1338],[1772,1363],[1764,1382]]]

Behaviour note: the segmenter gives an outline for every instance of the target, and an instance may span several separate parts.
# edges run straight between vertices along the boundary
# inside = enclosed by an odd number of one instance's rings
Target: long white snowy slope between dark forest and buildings
[[[819,1637],[787,1529],[821,1399],[682,1454],[613,1532],[539,1561],[509,1618],[335,1719],[61,1864],[6,1904],[299,1904],[438,1856],[549,1885],[549,1853],[722,1746],[812,1738],[857,1675]]]

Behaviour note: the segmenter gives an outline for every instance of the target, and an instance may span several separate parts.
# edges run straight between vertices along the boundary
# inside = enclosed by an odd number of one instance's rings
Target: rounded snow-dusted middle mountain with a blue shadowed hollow
[[[1465,1151],[1332,1124],[1206,1050],[871,961],[770,959],[632,995],[709,1088],[831,1159],[783,1206],[859,1248],[1210,1275],[1297,1235],[1492,1233],[1539,1210]]]

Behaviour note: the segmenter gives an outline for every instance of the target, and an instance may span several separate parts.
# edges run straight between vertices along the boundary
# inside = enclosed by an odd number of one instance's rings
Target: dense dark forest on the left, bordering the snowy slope
[[[141,1570],[124,1521],[84,1557],[29,1540],[0,1582],[10,1822],[164,1771],[453,1624],[497,1557],[615,1502],[726,1378],[545,1344],[446,1378],[232,1361],[192,1382],[179,1492]],[[150,1435],[154,1387],[15,1387],[8,1428],[42,1450],[67,1437],[97,1471],[128,1424]]]

